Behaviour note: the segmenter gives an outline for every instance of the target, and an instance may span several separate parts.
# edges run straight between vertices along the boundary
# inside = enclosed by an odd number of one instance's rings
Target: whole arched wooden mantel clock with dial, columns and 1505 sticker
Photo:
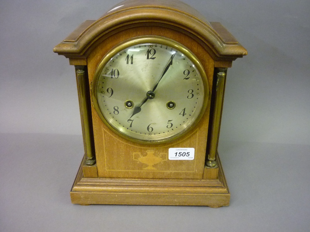
[[[121,2],[54,48],[75,66],[75,204],[229,204],[217,153],[227,68],[247,54],[178,2]]]

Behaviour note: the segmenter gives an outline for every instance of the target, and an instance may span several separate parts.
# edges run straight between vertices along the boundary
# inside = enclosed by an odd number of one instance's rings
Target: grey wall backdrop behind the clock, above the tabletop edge
[[[221,139],[310,144],[310,1],[185,1],[249,55],[228,70]],[[52,49],[118,1],[0,2],[0,132],[81,134],[74,68]]]

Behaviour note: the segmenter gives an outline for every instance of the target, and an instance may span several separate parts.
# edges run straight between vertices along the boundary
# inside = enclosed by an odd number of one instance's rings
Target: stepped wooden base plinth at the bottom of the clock
[[[222,165],[217,179],[85,178],[83,163],[71,189],[73,204],[204,205],[229,204]]]

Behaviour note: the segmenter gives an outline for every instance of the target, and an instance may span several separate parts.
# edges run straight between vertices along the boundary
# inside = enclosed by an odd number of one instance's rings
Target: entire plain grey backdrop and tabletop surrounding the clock
[[[310,2],[184,1],[248,50],[228,70],[229,207],[80,206],[74,67],[52,49],[120,1],[0,2],[0,231],[310,231]]]

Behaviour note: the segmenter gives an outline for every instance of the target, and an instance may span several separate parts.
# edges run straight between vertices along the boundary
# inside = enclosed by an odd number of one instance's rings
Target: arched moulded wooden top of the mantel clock
[[[87,20],[54,52],[67,58],[86,58],[98,42],[126,28],[157,25],[172,28],[201,41],[214,60],[232,61],[247,54],[245,48],[218,22],[208,22],[191,6],[179,1],[126,0],[98,20]]]

